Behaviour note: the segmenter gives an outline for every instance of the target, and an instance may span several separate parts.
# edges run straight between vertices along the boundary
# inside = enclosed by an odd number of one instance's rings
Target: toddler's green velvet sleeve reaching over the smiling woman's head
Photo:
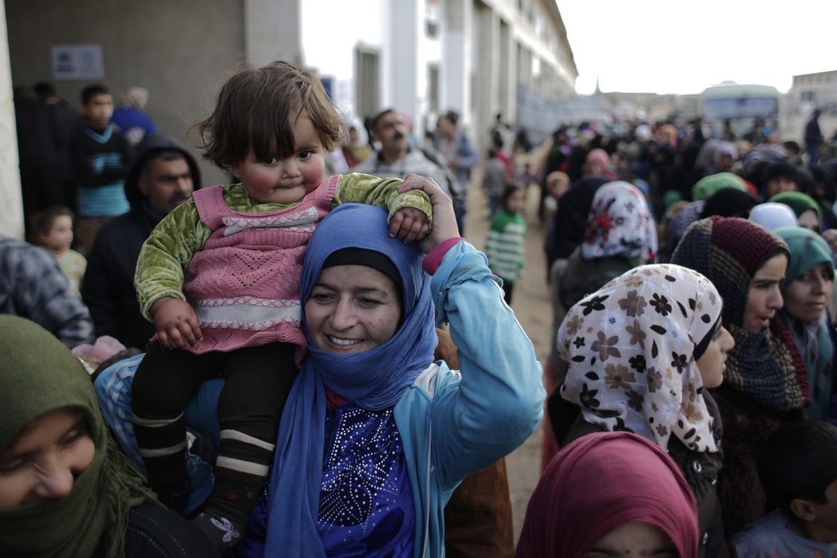
[[[378,178],[372,175],[352,172],[344,174],[337,182],[337,192],[331,207],[342,203],[367,203],[385,207],[389,212],[387,221],[402,207],[414,207],[427,215],[428,227],[433,225],[433,207],[428,195],[420,190],[398,193],[398,187],[404,182],[401,178]]]

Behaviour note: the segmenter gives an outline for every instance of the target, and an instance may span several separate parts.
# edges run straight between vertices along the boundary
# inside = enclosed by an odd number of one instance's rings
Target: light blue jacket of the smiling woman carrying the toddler
[[[444,555],[444,505],[450,494],[465,476],[511,453],[529,437],[541,420],[546,396],[535,350],[503,302],[485,254],[469,243],[456,244],[445,254],[430,288],[437,323],[450,324],[461,370],[435,362],[394,409],[415,497],[416,558]],[[125,417],[114,409],[126,404],[130,409],[130,382],[114,381],[116,370],[126,373],[117,363],[96,381],[112,427]],[[204,382],[199,397],[207,390],[217,392],[218,384],[209,383]],[[127,417],[130,421],[130,413]],[[123,448],[136,445],[130,422],[114,430]]]

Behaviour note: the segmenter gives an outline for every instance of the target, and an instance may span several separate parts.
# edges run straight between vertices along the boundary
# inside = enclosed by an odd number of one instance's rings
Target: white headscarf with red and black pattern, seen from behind
[[[657,228],[643,195],[628,182],[608,182],[593,196],[581,245],[584,259],[624,256],[653,262]]]

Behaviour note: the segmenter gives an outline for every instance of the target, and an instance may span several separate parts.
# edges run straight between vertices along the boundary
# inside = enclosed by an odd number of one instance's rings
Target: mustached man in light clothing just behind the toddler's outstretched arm
[[[376,177],[405,178],[408,174],[430,177],[444,193],[454,197],[460,192],[456,177],[444,166],[444,158],[410,143],[410,130],[395,109],[385,109],[372,119],[372,139],[381,149],[353,170]]]

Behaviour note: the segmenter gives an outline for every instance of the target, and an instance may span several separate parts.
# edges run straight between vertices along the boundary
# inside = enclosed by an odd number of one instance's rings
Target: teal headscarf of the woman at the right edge
[[[803,227],[781,227],[774,232],[788,243],[790,251],[788,271],[782,282],[783,297],[786,296],[788,283],[807,274],[819,264],[828,264],[831,276],[834,277],[834,254],[819,234]],[[823,420],[831,401],[831,367],[834,356],[828,326],[824,318],[814,322],[800,322],[784,310],[782,316],[788,323],[808,368],[808,385],[811,392],[808,417],[811,420]]]

